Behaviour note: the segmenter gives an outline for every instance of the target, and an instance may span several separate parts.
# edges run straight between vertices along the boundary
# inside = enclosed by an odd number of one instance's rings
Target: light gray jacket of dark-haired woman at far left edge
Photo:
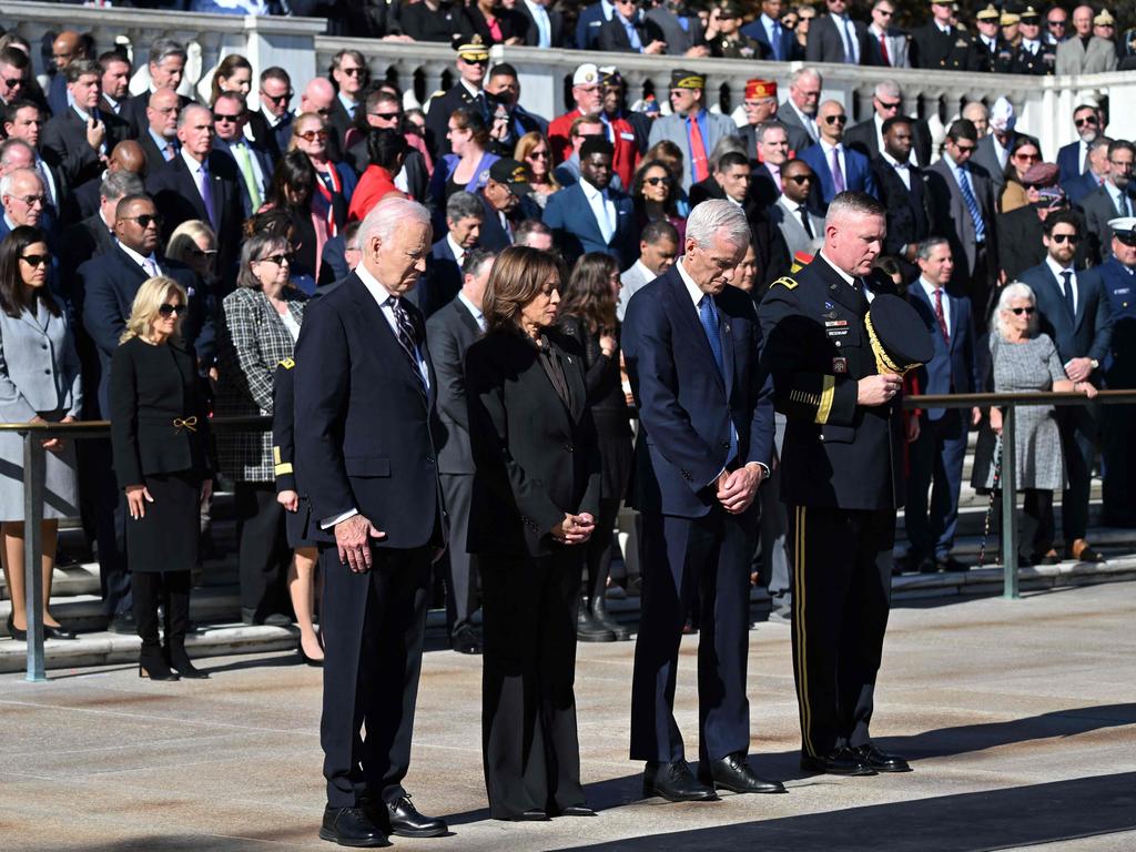
[[[78,354],[66,314],[51,316],[39,304],[35,316],[0,311],[0,417],[27,423],[42,411],[78,419],[83,384]]]

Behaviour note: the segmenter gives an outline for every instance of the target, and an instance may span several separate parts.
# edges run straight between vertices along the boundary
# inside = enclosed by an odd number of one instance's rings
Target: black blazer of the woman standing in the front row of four
[[[570,404],[552,385],[536,346],[520,333],[486,335],[466,353],[469,441],[477,473],[470,553],[548,556],[565,512],[600,509],[600,453],[584,384],[584,353],[548,329]]]

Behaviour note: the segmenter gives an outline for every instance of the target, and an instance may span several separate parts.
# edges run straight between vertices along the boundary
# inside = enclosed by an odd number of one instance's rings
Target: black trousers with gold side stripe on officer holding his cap
[[[870,742],[892,596],[895,510],[790,507],[793,675],[802,750]]]

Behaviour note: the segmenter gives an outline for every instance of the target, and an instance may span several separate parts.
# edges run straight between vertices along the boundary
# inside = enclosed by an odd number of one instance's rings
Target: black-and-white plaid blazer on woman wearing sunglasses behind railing
[[[289,310],[303,323],[308,296],[294,287],[284,291]],[[276,309],[259,290],[239,287],[222,302],[218,332],[218,386],[215,412],[223,417],[273,414],[276,367],[292,358],[295,341]],[[270,432],[226,432],[217,435],[222,471],[234,482],[275,482]]]

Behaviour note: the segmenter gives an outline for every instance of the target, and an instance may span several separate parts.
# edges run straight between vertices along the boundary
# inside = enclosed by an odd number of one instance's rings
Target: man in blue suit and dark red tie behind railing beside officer
[[[935,349],[935,354],[917,374],[919,392],[970,393],[978,386],[970,301],[946,292],[954,272],[951,244],[942,236],[924,240],[916,259],[920,274],[908,289],[908,301],[922,319]],[[968,418],[961,409],[932,408],[916,421],[918,434],[911,444],[904,517],[911,545],[908,561],[920,573],[962,569],[951,556],[951,548],[959,520],[968,419],[977,424],[978,415],[978,409],[970,411]]]

